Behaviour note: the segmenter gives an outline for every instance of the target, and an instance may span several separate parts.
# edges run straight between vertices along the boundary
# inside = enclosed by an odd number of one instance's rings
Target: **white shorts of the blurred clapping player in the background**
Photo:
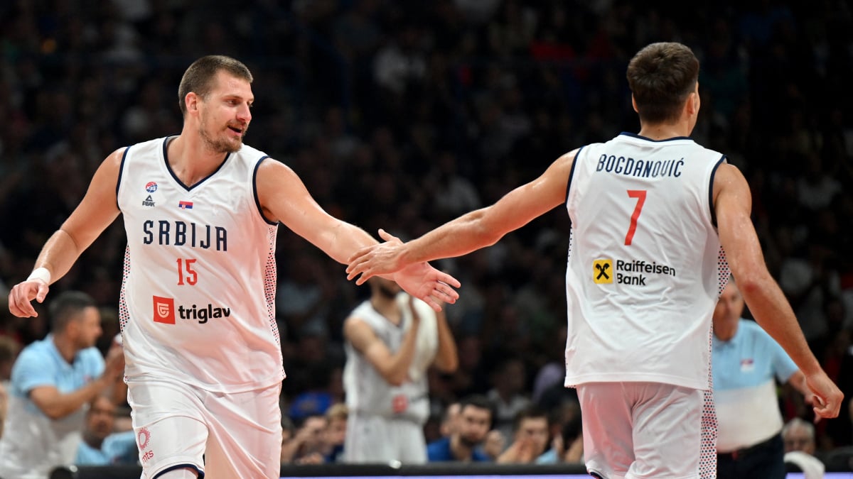
[[[403,464],[427,462],[427,444],[421,424],[406,419],[351,413],[346,422],[344,462]]]

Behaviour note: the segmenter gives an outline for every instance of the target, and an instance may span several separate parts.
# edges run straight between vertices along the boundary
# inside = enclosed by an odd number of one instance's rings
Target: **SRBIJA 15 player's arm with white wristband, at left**
[[[124,148],[103,161],[80,204],[50,236],[38,255],[33,274],[9,291],[9,312],[20,318],[38,316],[32,300],[44,302],[49,286],[67,274],[89,245],[119,216],[116,185]]]

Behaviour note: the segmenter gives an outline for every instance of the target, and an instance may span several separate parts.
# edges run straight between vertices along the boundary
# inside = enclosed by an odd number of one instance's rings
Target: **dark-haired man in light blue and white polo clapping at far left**
[[[9,421],[0,438],[0,476],[47,477],[72,464],[87,405],[109,392],[124,372],[113,345],[106,364],[96,349],[101,318],[94,301],[66,291],[49,307],[51,332],[24,348],[12,369]]]

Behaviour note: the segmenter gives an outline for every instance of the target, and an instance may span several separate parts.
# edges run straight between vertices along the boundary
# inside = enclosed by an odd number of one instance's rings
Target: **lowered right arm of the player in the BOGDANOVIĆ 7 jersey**
[[[815,394],[815,414],[823,418],[838,416],[844,395],[812,354],[791,305],[764,263],[750,217],[749,185],[740,170],[730,164],[722,164],[717,170],[714,209],[720,243],[746,305],[757,323],[785,349],[805,375],[809,390]]]

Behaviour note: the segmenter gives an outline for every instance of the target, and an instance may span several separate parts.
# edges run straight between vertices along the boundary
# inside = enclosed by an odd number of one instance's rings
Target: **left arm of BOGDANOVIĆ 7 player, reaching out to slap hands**
[[[386,240],[348,258],[347,279],[361,285],[371,276],[390,274],[409,264],[458,257],[494,245],[505,234],[566,201],[566,188],[576,151],[554,161],[542,176],[515,188],[494,205],[471,211],[446,222],[416,240],[401,243],[380,230]]]

